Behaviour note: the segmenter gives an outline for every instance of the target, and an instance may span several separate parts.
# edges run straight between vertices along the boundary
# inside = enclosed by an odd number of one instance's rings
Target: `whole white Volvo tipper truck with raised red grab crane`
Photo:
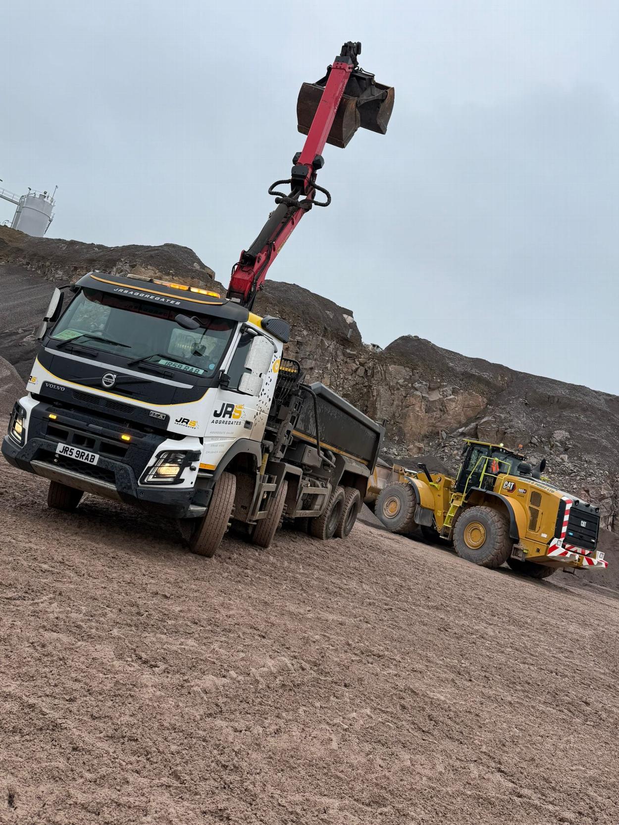
[[[273,185],[289,183],[290,194],[272,186],[276,210],[225,298],[96,271],[54,290],[2,441],[11,464],[50,480],[50,507],[73,510],[86,492],[154,510],[176,517],[207,556],[231,521],[262,547],[284,517],[321,539],[350,532],[383,428],[322,384],[304,384],[282,356],[288,324],[251,310],[286,238],[325,192],[315,183],[325,142],[346,145],[360,125],[386,130],[393,89],[358,68],[360,50],[345,44],[326,78],[304,84],[305,147],[291,178]]]

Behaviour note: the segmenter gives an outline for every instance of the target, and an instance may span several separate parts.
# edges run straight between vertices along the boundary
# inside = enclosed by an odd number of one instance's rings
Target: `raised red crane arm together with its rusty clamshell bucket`
[[[381,134],[387,130],[394,89],[376,83],[373,74],[359,68],[359,54],[361,43],[345,43],[342,54],[328,67],[324,78],[301,87],[297,120],[299,131],[307,134],[305,145],[292,159],[291,177],[269,187],[276,209],[251,247],[241,252],[230,276],[228,298],[248,309],[253,306],[269,266],[305,212],[312,206],[328,206],[331,202],[328,191],[316,183],[316,173],[324,164],[324,144],[344,147],[359,127]],[[277,191],[276,186],[290,186],[290,193]],[[317,192],[324,200],[316,200]]]

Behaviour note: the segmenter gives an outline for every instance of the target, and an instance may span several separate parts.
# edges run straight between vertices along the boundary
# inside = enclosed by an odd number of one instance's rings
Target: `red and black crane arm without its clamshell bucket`
[[[269,266],[275,261],[281,247],[305,212],[313,205],[327,206],[330,203],[331,197],[328,192],[316,185],[316,172],[323,166],[321,152],[327,142],[348,79],[352,70],[357,67],[360,47],[361,44],[357,43],[345,44],[343,54],[338,55],[333,61],[303,150],[295,154],[293,159],[295,165],[292,167],[291,177],[287,181],[276,181],[269,189],[269,194],[276,196],[276,210],[269,216],[251,247],[241,252],[239,262],[233,267],[227,297],[248,309],[253,306],[256,293],[267,277]],[[291,185],[289,195],[274,191],[275,186],[288,183]],[[324,193],[326,200],[314,200],[316,191]]]

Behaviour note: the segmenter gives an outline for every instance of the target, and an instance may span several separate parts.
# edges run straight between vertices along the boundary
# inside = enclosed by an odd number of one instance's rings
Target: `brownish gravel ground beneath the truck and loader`
[[[201,559],[2,471],[0,823],[619,822],[612,592],[366,524]]]

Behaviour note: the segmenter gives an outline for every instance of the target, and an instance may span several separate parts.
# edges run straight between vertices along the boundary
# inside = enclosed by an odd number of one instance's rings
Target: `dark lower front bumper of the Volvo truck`
[[[24,446],[20,446],[10,436],[5,436],[2,441],[2,455],[13,467],[26,470],[28,473],[83,490],[84,493],[111,498],[142,510],[156,512],[161,516],[187,518],[201,516],[206,512],[205,506],[196,506],[192,503],[194,488],[175,490],[139,486],[129,465],[103,456],[96,466],[81,467],[78,461],[73,461],[71,466],[60,466],[53,458],[57,446],[57,442],[48,441],[43,437],[32,438],[26,441]],[[203,493],[201,505],[206,503]]]

